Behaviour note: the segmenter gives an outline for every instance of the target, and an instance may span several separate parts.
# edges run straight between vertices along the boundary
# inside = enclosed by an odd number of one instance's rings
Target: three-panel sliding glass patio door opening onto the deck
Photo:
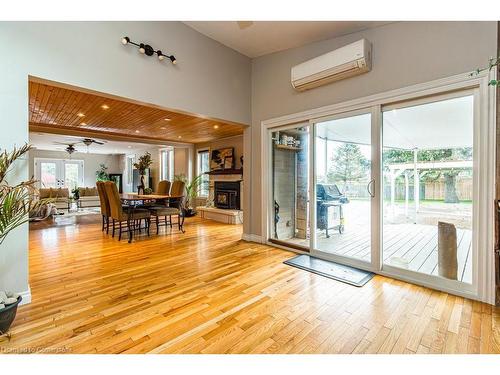
[[[477,297],[491,238],[479,97],[457,90],[269,129],[268,240]]]

